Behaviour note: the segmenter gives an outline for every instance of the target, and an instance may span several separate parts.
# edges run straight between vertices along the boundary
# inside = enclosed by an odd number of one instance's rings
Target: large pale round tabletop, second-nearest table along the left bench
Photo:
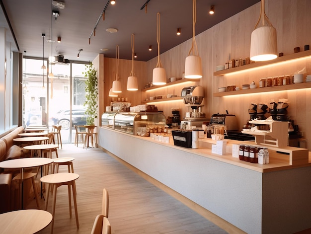
[[[46,165],[52,162],[53,162],[53,159],[46,158],[46,157],[26,157],[26,158],[17,158],[17,159],[1,161],[0,167],[1,168],[28,168],[28,167],[35,167],[35,166],[43,166],[43,165]]]

